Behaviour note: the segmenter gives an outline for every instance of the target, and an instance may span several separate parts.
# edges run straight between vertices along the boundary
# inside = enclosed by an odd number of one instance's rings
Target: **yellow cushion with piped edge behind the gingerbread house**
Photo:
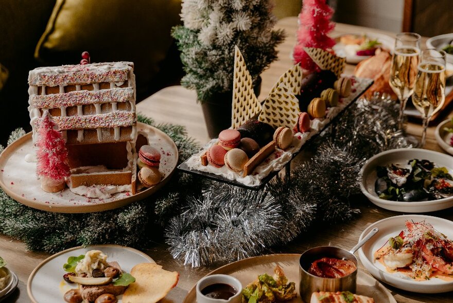
[[[137,89],[159,71],[180,23],[181,0],[57,0],[34,56],[42,64],[132,61]]]

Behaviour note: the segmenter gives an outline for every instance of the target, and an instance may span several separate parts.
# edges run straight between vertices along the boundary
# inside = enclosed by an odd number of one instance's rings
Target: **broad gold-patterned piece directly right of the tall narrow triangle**
[[[292,128],[298,122],[299,113],[299,100],[286,87],[278,86],[264,102],[258,120],[274,128]]]

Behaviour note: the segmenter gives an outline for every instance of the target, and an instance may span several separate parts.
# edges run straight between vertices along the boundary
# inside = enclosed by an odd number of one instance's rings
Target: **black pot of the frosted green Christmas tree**
[[[261,77],[258,77],[253,86],[256,97],[261,91],[261,82]],[[232,101],[233,91],[226,91],[215,94],[210,100],[201,104],[207,134],[210,138],[217,138],[220,131],[231,126]]]

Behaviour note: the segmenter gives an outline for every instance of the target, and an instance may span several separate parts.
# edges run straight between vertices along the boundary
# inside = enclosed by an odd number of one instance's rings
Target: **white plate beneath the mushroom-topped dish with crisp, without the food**
[[[155,263],[154,260],[135,249],[120,245],[94,245],[90,247],[76,247],[59,252],[41,262],[30,274],[27,282],[27,292],[33,303],[61,303],[66,291],[75,288],[66,283],[63,275],[63,264],[71,256],[83,255],[91,250],[100,250],[107,255],[107,261],[117,261],[121,270],[130,273],[138,263]],[[118,303],[123,300],[118,296]]]

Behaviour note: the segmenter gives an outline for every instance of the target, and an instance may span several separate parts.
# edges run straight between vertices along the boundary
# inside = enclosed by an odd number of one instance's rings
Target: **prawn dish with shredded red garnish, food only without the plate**
[[[453,281],[453,243],[425,221],[406,221],[406,229],[391,237],[374,258],[389,272],[414,280]]]

